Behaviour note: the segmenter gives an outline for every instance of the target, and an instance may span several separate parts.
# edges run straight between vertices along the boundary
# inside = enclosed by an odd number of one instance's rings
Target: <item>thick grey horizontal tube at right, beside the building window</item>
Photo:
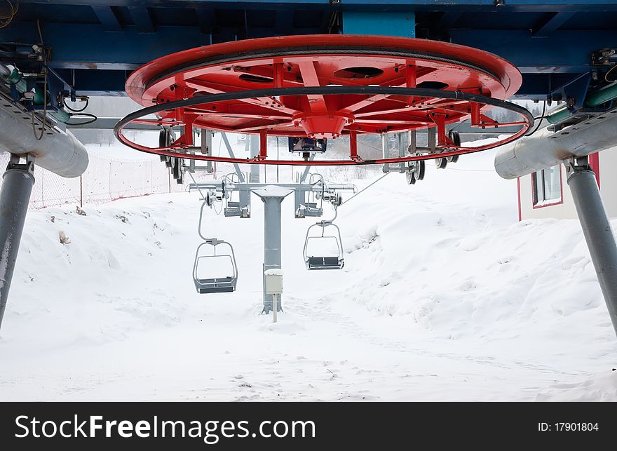
[[[515,179],[573,157],[610,149],[616,143],[617,114],[607,113],[557,133],[543,128],[501,147],[495,156],[495,170],[505,179]]]

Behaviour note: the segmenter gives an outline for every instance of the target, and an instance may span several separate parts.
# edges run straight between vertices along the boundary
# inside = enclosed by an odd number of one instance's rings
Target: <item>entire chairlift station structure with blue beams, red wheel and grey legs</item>
[[[550,130],[500,154],[499,173],[516,177],[567,161],[572,173],[585,175],[585,155],[595,148],[590,124],[601,128],[617,97],[617,4],[611,0],[5,0],[0,11],[7,120],[20,116],[24,125],[30,118],[34,133],[46,141],[64,133],[62,124],[89,120],[71,101],[128,93],[144,111],[120,121],[118,137],[168,161],[215,160],[207,141],[195,146],[188,133],[206,128],[259,136],[242,163],[398,163],[403,172],[407,168],[408,180],[421,180],[419,163],[425,159],[444,165],[487,148],[461,145],[448,133],[449,123],[464,120],[480,129],[514,125],[514,134],[502,143],[521,137],[534,118],[506,100],[524,98],[563,104],[548,114]],[[495,107],[514,111],[517,119],[510,124],[491,119]],[[149,113],[158,119],[142,117]],[[184,133],[153,149],[122,134],[125,127],[153,124],[182,126]],[[416,145],[414,135],[424,129],[430,131],[427,147]],[[583,147],[564,137],[578,130],[587,130],[581,131]],[[388,161],[365,159],[354,145],[363,133],[401,131],[410,133],[409,150],[399,149]],[[348,135],[350,155],[272,159],[268,135],[315,140]],[[79,145],[64,137],[44,149],[28,144],[32,152],[11,139],[0,130],[0,147],[28,162],[27,168],[11,170],[32,175],[38,160],[70,177],[87,164]],[[611,144],[604,141],[597,150]],[[72,169],[54,166],[67,158],[73,158]],[[232,155],[221,161],[240,162]],[[257,171],[249,178],[257,182]],[[588,185],[577,181],[583,179],[588,177],[569,178],[575,197],[590,190],[578,189]],[[3,208],[20,213],[23,196],[4,192],[21,189],[15,186],[3,185],[1,196],[8,202]],[[578,201],[582,206],[580,196]],[[590,205],[578,211],[613,312],[617,299],[604,285],[617,280],[616,253],[595,254],[614,248],[614,241],[593,231],[606,225],[594,217],[606,220],[606,214],[597,207],[601,203]],[[20,220],[14,223],[20,228]],[[11,237],[0,233],[0,245],[14,249]]]

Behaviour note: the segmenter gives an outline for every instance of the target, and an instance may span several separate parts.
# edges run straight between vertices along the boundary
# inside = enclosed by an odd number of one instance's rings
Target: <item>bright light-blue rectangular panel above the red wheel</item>
[[[343,11],[343,32],[413,38],[416,36],[416,19],[413,12]]]

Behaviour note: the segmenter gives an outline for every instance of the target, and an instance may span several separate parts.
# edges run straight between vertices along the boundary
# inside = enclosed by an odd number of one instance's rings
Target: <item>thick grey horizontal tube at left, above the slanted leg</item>
[[[36,131],[39,133],[38,126]],[[16,114],[0,105],[0,151],[3,150],[15,155],[28,154],[34,157],[36,166],[62,177],[79,177],[88,168],[86,147],[72,133],[46,128],[41,140],[37,140],[29,114]]]

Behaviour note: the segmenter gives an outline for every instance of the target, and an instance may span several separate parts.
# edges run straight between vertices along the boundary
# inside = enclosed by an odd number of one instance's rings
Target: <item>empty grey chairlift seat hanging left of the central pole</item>
[[[203,246],[212,246],[211,254],[201,254]],[[229,250],[227,253],[217,255],[217,246],[225,245]],[[212,277],[202,278],[200,277],[199,267],[206,261],[214,260],[229,260],[229,272],[231,276],[224,277]],[[238,283],[238,267],[236,266],[236,257],[233,255],[233,247],[227,241],[219,241],[217,238],[210,238],[197,247],[195,253],[195,264],[193,265],[193,280],[195,282],[195,288],[197,292],[204,293],[216,293],[216,292],[232,292],[236,290],[236,283]]]

